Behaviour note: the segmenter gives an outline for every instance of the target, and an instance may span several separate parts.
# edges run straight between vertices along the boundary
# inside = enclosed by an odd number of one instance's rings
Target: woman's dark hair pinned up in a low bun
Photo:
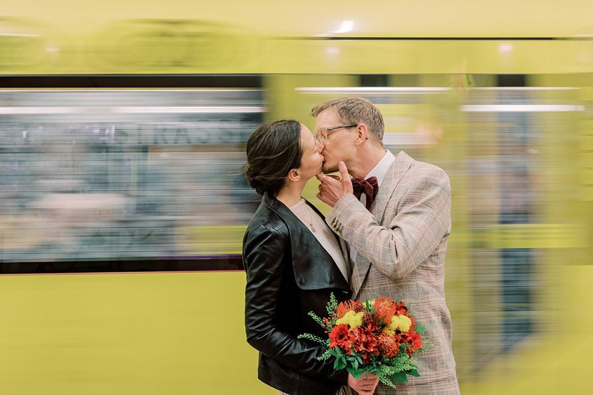
[[[301,123],[279,120],[264,123],[247,140],[243,172],[257,193],[276,197],[286,176],[301,166]]]

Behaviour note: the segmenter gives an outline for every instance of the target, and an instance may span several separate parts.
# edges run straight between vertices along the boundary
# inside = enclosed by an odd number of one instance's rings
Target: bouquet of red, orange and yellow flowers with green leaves
[[[415,322],[401,301],[382,296],[365,302],[337,303],[331,294],[327,313],[328,318],[320,318],[313,311],[309,315],[329,333],[329,338],[311,333],[298,336],[327,346],[318,359],[336,357],[336,370],[346,368],[356,379],[369,372],[394,388],[393,381],[407,383],[407,374],[420,376],[412,355],[423,351],[420,335],[426,328]]]

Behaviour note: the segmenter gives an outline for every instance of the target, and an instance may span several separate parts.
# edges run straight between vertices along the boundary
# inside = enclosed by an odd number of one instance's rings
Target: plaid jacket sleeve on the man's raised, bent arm
[[[451,230],[449,178],[434,166],[389,199],[384,215],[391,220],[385,226],[352,194],[337,201],[326,221],[375,268],[401,278],[426,261]]]

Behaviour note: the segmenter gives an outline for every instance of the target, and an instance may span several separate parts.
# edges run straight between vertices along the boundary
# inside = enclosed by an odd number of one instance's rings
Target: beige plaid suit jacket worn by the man
[[[445,304],[445,252],[451,232],[451,187],[437,166],[405,152],[381,183],[371,212],[346,195],[326,217],[356,249],[350,288],[358,300],[388,296],[403,300],[417,322],[429,328],[416,355],[420,377],[397,388],[379,384],[376,394],[458,394],[451,351],[451,316]]]

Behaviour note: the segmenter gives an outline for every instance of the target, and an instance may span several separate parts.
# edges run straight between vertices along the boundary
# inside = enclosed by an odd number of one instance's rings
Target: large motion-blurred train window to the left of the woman
[[[262,89],[5,89],[0,100],[2,272],[242,268],[260,197],[240,170]]]

